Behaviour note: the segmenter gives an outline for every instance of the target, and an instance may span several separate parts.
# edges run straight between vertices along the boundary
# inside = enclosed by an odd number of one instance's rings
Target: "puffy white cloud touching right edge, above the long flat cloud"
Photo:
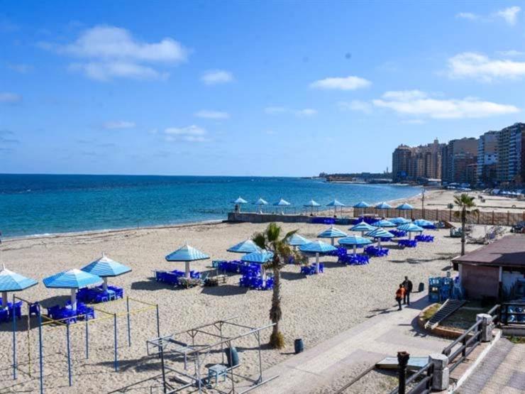
[[[525,75],[525,62],[490,59],[480,53],[459,53],[448,59],[448,75],[453,78],[475,78],[490,82],[495,78],[517,78]]]

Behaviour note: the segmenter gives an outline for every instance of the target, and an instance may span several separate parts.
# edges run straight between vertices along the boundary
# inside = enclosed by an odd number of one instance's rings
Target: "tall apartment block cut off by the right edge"
[[[525,124],[503,128],[497,138],[497,182],[522,184],[525,180]]]

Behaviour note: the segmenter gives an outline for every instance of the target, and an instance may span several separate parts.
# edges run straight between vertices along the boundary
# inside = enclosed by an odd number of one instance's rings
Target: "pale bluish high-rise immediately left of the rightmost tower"
[[[492,187],[496,184],[498,136],[499,131],[487,131],[477,140],[477,185]]]

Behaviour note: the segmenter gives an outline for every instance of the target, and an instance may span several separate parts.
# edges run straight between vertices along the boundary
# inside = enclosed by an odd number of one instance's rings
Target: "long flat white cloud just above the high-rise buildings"
[[[398,114],[428,116],[433,119],[485,118],[515,114],[514,105],[484,102],[479,99],[433,99],[419,90],[386,92],[382,99],[372,101],[375,106],[389,108]]]

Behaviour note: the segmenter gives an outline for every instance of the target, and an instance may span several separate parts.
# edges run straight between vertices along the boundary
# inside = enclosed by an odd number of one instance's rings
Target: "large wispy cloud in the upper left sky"
[[[83,31],[74,43],[55,45],[39,43],[40,48],[62,55],[85,59],[70,65],[94,80],[114,77],[136,80],[162,80],[168,76],[152,64],[173,65],[187,60],[187,50],[172,38],[145,43],[133,38],[129,31],[114,26],[95,26]]]

